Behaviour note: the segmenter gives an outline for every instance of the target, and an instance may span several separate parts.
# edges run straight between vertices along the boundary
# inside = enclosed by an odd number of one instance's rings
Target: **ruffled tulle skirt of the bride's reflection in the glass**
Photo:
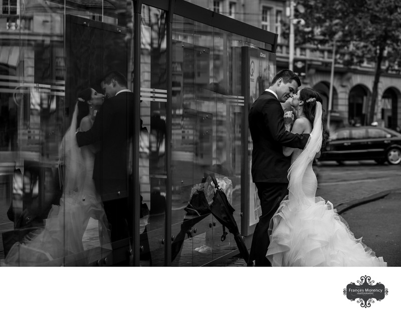
[[[90,219],[98,221],[96,239],[85,246],[83,236]],[[93,239],[92,238],[92,239]],[[29,233],[10,249],[2,265],[84,266],[111,252],[109,229],[101,200],[95,195],[73,194],[53,205],[45,226]]]

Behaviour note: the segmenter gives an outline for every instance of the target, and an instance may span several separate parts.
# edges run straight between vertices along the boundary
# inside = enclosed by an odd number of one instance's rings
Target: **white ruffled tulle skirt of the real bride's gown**
[[[302,203],[286,197],[270,222],[266,257],[272,266],[386,266],[356,239],[329,201]]]

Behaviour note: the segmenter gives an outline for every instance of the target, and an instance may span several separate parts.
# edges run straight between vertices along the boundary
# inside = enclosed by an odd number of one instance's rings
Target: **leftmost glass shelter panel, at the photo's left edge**
[[[45,229],[48,216],[60,211],[62,195],[63,10],[49,3],[10,5],[0,16],[0,259],[8,265],[63,265],[71,254],[64,218],[56,236]],[[74,250],[82,252],[82,242]],[[71,262],[81,259],[77,254]]]

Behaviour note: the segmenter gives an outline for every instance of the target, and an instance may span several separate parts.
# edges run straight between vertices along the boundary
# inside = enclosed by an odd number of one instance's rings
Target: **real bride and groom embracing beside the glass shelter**
[[[249,110],[251,172],[262,215],[248,266],[386,266],[355,239],[333,205],[316,196],[312,163],[327,138],[324,110],[320,94],[300,86],[294,72],[281,70]],[[293,111],[284,113],[281,103],[289,98]]]

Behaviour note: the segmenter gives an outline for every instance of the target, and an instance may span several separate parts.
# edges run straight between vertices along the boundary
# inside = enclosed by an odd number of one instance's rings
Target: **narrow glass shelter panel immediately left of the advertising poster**
[[[239,50],[243,38],[215,29],[214,58],[211,70],[211,102],[216,107],[214,120],[214,152],[212,171],[230,204],[236,209],[234,218],[241,230],[241,166],[243,144],[241,142],[244,115],[244,96],[239,85],[241,65]],[[235,194],[233,195],[233,191]],[[233,199],[234,198],[234,199]],[[223,225],[214,218],[213,258],[218,258],[237,248],[232,234],[223,238]],[[228,226],[230,227],[230,226]]]

